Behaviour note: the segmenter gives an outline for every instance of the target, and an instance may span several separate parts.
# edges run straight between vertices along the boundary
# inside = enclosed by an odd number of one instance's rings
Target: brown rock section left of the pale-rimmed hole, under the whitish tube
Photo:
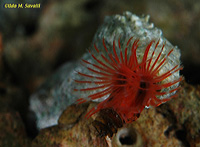
[[[91,126],[92,119],[85,119],[88,104],[72,105],[59,118],[58,125],[42,129],[33,140],[32,147],[83,146],[107,147],[105,138],[100,138]]]

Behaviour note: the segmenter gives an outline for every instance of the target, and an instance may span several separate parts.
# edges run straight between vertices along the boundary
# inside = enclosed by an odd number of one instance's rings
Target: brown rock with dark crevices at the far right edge
[[[184,146],[198,146],[200,142],[200,87],[183,83],[179,97],[163,104],[158,112],[171,123],[167,134],[174,135]]]

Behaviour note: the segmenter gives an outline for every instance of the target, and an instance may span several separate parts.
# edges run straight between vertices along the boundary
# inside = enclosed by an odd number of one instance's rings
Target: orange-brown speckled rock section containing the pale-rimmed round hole
[[[169,121],[155,108],[144,110],[135,122],[124,125],[112,140],[113,147],[130,146],[181,146],[174,135],[166,136]]]

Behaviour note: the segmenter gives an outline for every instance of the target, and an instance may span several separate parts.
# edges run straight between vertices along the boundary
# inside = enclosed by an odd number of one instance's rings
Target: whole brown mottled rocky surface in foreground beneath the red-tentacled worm
[[[71,105],[60,116],[58,125],[40,131],[33,145],[199,146],[199,99],[199,87],[184,82],[177,98],[145,109],[137,121],[124,125],[110,139],[98,137],[91,124],[98,114],[84,117],[96,103]]]

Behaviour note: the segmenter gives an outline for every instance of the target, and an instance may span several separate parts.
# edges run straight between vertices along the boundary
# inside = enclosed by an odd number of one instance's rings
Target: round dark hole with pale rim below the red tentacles
[[[134,129],[123,128],[118,134],[121,145],[133,145],[136,143],[137,134]]]

